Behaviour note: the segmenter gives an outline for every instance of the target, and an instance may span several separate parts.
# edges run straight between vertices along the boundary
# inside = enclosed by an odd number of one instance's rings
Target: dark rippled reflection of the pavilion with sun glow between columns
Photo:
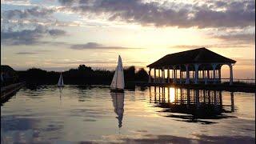
[[[190,90],[185,88],[155,86],[154,90],[151,91],[151,88],[150,102],[151,99],[153,99],[151,95],[154,94],[154,103],[158,103],[156,106],[164,108],[162,112],[171,113],[166,115],[166,117],[182,118],[187,122],[210,123],[207,121],[199,121],[198,118],[229,118],[222,113],[234,112],[234,93],[230,93],[231,105],[223,105],[222,91]],[[226,110],[226,107],[230,107],[230,110]]]

